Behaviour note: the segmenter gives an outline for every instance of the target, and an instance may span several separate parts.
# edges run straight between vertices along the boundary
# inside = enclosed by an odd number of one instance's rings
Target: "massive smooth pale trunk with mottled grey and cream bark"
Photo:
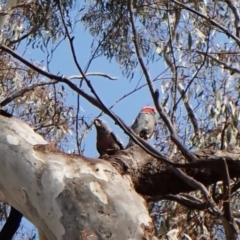
[[[17,119],[0,116],[0,130],[0,200],[49,240],[151,238],[130,177],[107,161],[59,152]]]

